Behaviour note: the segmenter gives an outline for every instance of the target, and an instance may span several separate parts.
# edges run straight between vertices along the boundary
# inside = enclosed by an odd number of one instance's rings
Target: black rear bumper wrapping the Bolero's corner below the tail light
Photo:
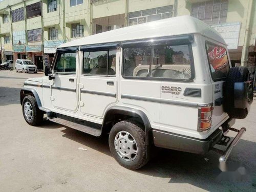
[[[160,130],[153,130],[153,138],[155,146],[158,147],[195,154],[205,154],[211,147],[221,140],[222,130],[217,129],[207,139],[198,139]]]

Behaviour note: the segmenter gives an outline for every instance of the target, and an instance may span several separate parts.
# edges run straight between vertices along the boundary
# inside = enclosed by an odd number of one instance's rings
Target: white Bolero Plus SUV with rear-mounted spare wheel
[[[48,120],[96,137],[109,133],[117,162],[143,166],[151,146],[226,161],[245,132],[233,129],[252,102],[247,68],[231,68],[211,27],[180,16],[108,31],[61,45],[46,76],[20,91],[25,120]],[[238,135],[232,142],[228,131]],[[226,151],[218,145],[228,145]]]

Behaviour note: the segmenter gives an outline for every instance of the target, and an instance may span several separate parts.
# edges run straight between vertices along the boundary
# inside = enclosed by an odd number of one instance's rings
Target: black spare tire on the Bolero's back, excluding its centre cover
[[[224,90],[224,109],[228,116],[236,119],[244,119],[248,110],[234,108],[234,83],[249,80],[249,70],[245,67],[233,67],[229,70]]]

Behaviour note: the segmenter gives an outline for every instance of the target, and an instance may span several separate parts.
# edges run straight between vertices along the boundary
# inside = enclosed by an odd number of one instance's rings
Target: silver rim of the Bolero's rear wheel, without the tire
[[[138,145],[132,134],[129,132],[118,132],[114,144],[117,154],[125,161],[133,161],[137,157]]]

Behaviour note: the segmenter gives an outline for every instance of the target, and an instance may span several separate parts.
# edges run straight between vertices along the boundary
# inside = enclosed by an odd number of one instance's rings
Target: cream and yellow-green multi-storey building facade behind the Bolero
[[[255,12],[255,0],[4,0],[0,2],[1,60],[28,58],[42,70],[67,41],[191,15],[224,37],[233,66],[253,66]]]

